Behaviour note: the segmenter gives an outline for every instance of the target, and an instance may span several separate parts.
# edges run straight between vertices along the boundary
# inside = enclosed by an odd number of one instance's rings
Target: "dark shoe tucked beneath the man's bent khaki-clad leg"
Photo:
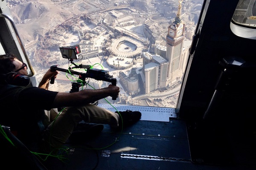
[[[94,137],[102,132],[104,125],[93,123],[79,123],[70,135],[70,140],[73,142],[81,142],[84,139]]]

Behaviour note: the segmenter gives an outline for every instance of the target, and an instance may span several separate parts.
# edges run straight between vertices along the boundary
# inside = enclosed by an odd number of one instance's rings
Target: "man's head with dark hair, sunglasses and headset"
[[[27,65],[15,57],[14,54],[0,55],[0,83],[27,86],[30,83],[27,77]]]

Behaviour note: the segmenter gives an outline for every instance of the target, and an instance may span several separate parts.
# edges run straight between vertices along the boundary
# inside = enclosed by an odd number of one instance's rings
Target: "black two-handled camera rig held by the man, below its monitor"
[[[79,75],[79,79],[81,79],[83,82],[85,82],[85,78],[92,78],[92,79],[96,79],[96,80],[102,80],[105,82],[111,82],[112,85],[116,85],[116,79],[113,78],[113,76],[109,75],[108,71],[91,68],[90,65],[82,65],[82,64],[76,65],[75,63],[73,63],[73,59],[70,59],[70,61],[73,65],[75,65],[75,67],[72,67],[69,69],[64,69],[64,68],[58,68],[57,65],[52,65],[50,67],[50,69],[52,71],[62,71],[62,72],[66,72],[69,74]],[[73,68],[87,68],[87,72],[82,73],[82,72],[78,72],[78,71],[73,71],[72,70]],[[55,80],[55,78],[52,77],[50,83],[54,84],[54,80]],[[72,82],[72,89],[70,90],[70,93],[79,91],[79,87],[81,87],[81,83]],[[112,100],[116,100],[116,98],[112,97]]]

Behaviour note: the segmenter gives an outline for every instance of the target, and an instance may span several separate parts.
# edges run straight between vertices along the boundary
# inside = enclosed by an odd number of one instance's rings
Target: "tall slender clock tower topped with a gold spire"
[[[166,36],[166,59],[169,61],[167,79],[169,83],[178,80],[182,74],[180,68],[183,64],[181,63],[183,61],[181,57],[185,39],[185,24],[180,17],[182,1],[179,0],[177,16],[172,25],[168,27]]]

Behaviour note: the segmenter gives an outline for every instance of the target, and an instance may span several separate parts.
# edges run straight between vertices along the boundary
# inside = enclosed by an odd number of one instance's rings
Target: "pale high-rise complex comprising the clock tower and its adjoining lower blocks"
[[[145,74],[145,93],[156,90],[157,88],[166,88],[169,84],[182,78],[185,70],[187,50],[183,51],[185,40],[185,23],[181,18],[181,3],[177,16],[168,27],[166,36],[166,47],[156,45],[155,55],[143,52],[143,73]]]

